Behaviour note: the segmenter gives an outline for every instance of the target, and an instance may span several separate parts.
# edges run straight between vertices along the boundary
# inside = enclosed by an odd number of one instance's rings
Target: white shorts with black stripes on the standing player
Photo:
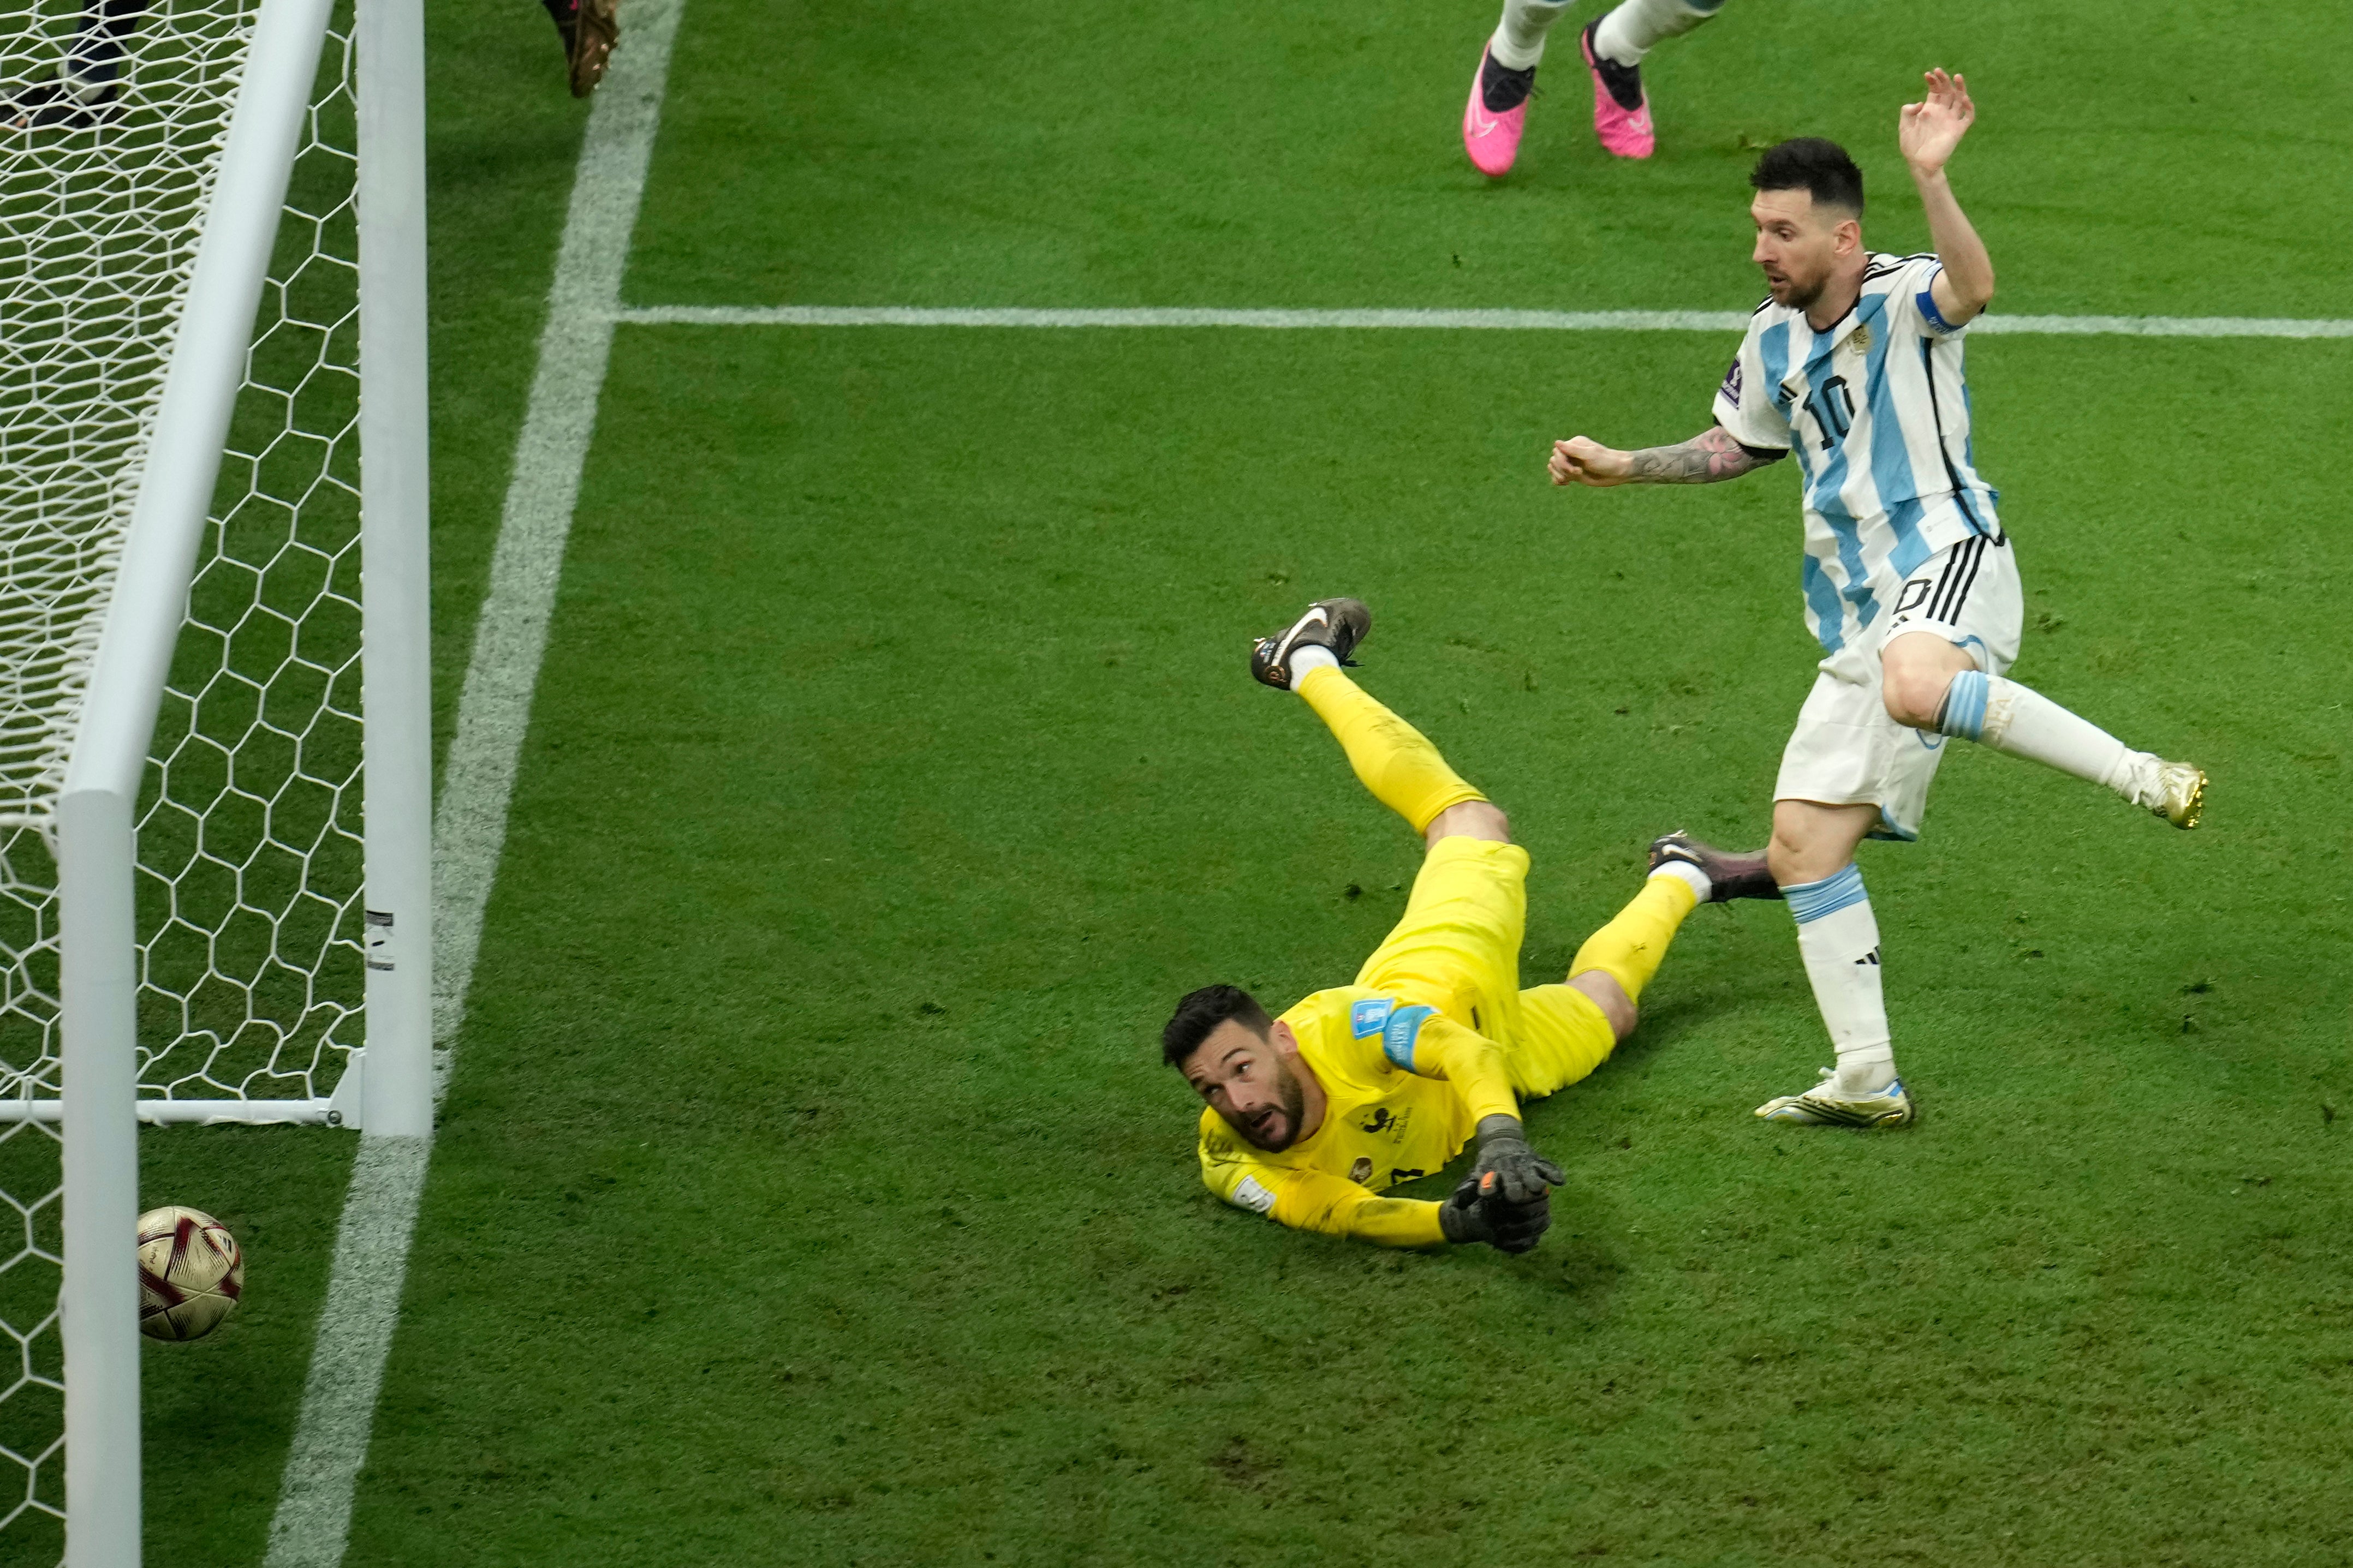
[[[1932,555],[1882,602],[1894,609],[1880,616],[1866,646],[1821,661],[1814,691],[1798,710],[1798,729],[1781,750],[1772,795],[1878,806],[1880,825],[1871,837],[1918,839],[1946,736],[1887,717],[1880,651],[1894,637],[1934,632],[1967,649],[1986,675],[2007,672],[2019,656],[2026,616],[2017,545],[2000,534],[1972,534]]]

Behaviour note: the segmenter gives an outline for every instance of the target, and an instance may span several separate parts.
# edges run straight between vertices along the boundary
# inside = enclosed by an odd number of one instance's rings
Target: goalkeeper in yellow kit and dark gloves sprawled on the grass
[[[1266,637],[1249,672],[1297,691],[1374,797],[1428,844],[1405,917],[1355,985],[1268,1018],[1209,985],[1176,1004],[1165,1060],[1207,1100],[1200,1173],[1228,1204],[1299,1229],[1384,1246],[1537,1246],[1560,1166],[1527,1145],[1520,1098],[1586,1077],[1635,1023],[1635,999],[1699,900],[1779,898],[1765,856],[1687,835],[1649,849],[1649,879],[1569,964],[1520,990],[1527,851],[1485,795],[1339,665],[1372,630],[1358,599],[1318,599]],[[1379,1197],[1478,1138],[1478,1166],[1442,1204]]]

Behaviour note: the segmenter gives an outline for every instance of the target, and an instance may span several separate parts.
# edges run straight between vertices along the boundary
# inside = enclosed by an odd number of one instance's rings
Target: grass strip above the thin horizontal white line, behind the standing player
[[[1748,172],[1784,136],[1854,153],[1866,244],[1927,247],[1897,106],[1944,61],[1979,103],[1953,190],[2000,310],[2353,313],[2341,0],[1727,5],[1645,59],[1647,160],[1593,139],[1555,33],[1504,181],[1459,132],[1489,26],[1337,0],[713,12],[633,299],[1746,310]]]

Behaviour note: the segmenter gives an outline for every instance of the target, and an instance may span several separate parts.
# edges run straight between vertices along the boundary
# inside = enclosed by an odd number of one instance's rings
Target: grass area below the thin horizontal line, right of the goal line
[[[1447,334],[621,348],[355,1561],[2344,1537],[2341,696],[2278,658],[2353,567],[2301,461],[2334,348],[2005,350],[2019,675],[2212,766],[2209,827],[1948,762],[1927,839],[1866,849],[1915,1135],[1748,1119],[1828,1046],[1788,914],[1701,910],[1532,1110],[1572,1180],[1527,1260],[1214,1204],[1153,1034],[1212,978],[1346,980],[1402,903],[1412,835],[1245,672],[1315,592],[1372,602],[1365,684],[1511,809],[1532,976],[1649,835],[1762,835],[1812,677],[1793,475],[1539,465],[1631,355],[1609,433],[1685,435],[1718,346],[1560,339],[1501,411]],[[2148,473],[2151,423],[2214,461]]]

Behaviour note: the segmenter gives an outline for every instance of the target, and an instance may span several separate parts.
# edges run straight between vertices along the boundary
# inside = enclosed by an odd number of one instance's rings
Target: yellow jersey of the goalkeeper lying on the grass
[[[1282,1023],[1322,1084],[1322,1124],[1271,1154],[1205,1107],[1202,1180],[1282,1225],[1391,1246],[1440,1241],[1438,1204],[1374,1194],[1445,1168],[1480,1117],[1518,1114],[1501,1051],[1431,1006],[1362,987],[1315,992]]]

